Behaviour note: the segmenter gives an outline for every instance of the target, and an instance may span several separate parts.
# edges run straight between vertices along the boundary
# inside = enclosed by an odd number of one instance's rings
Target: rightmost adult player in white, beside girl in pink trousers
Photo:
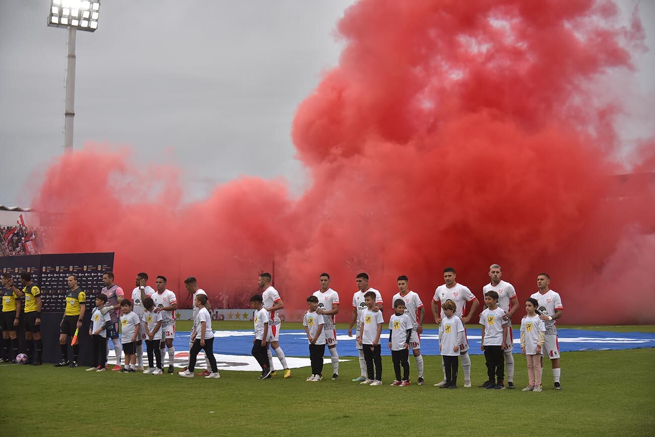
[[[555,390],[561,389],[559,385],[559,377],[561,375],[561,368],[559,367],[559,343],[557,341],[557,320],[562,316],[564,305],[559,293],[553,292],[550,289],[550,276],[548,273],[540,273],[536,277],[536,286],[539,291],[531,295],[533,299],[539,303],[539,318],[544,320],[546,325],[546,335],[544,335],[544,348],[542,349],[542,356],[546,355],[550,358],[550,364],[553,366],[553,380],[555,381]],[[542,369],[544,368],[544,361],[542,359]]]

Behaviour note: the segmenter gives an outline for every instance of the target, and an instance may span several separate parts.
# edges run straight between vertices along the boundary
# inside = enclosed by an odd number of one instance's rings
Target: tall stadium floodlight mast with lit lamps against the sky
[[[66,104],[64,109],[64,152],[73,150],[73,117],[75,117],[75,32],[98,29],[100,1],[50,0],[48,26],[68,30],[66,62]]]

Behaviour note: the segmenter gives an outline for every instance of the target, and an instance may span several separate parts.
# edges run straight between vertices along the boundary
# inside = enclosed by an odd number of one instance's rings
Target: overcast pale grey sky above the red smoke
[[[74,147],[178,162],[189,199],[242,174],[283,175],[301,191],[291,120],[337,64],[335,24],[352,3],[103,0],[98,30],[77,33]],[[650,47],[654,5],[641,6]],[[0,0],[1,204],[29,206],[28,175],[62,153],[66,31],[46,26],[48,7]],[[639,56],[626,137],[652,132],[654,66],[652,51]]]

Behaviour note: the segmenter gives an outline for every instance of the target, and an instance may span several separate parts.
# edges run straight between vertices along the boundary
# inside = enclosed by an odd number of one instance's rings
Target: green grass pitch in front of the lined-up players
[[[180,321],[179,330],[182,325]],[[290,329],[297,325],[286,324]],[[215,327],[248,328],[244,322]],[[471,358],[475,386],[486,379],[484,358]],[[356,359],[340,364],[339,381],[320,383],[305,381],[309,368],[293,370],[290,379],[278,375],[259,381],[257,373],[245,371],[221,371],[220,379],[184,379],[0,365],[5,404],[0,430],[3,435],[37,436],[653,435],[655,349],[564,352],[563,389],[552,389],[546,364],[541,393],[521,392],[527,384],[525,359],[515,354],[515,362],[519,389],[500,391],[433,387],[441,380],[438,356],[425,356],[422,387],[386,385],[392,374],[389,357],[383,357],[383,387],[350,382],[359,374]],[[410,366],[415,375],[411,358]]]

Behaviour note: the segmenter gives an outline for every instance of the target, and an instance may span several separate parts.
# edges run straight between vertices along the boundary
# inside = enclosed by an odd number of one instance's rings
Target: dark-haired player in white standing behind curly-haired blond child
[[[441,303],[444,303],[447,300],[455,302],[457,309],[455,310],[455,315],[462,320],[464,324],[464,342],[460,345],[460,356],[462,357],[462,370],[464,370],[464,387],[471,387],[471,357],[468,356],[468,339],[466,338],[466,324],[471,320],[472,314],[476,313],[477,307],[480,306],[480,303],[477,301],[477,297],[471,293],[471,290],[468,287],[458,284],[457,274],[453,267],[446,267],[443,269],[443,280],[445,284],[440,285],[434,290],[434,297],[432,298],[432,315],[434,320],[437,323],[441,323],[441,318],[445,315],[443,309],[441,309]],[[466,303],[471,303],[471,310],[466,314]],[[446,370],[443,360],[441,360],[441,368],[443,368],[443,381],[439,383],[439,387],[446,385]]]

